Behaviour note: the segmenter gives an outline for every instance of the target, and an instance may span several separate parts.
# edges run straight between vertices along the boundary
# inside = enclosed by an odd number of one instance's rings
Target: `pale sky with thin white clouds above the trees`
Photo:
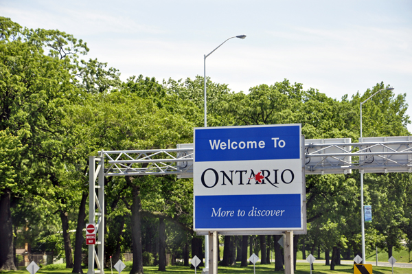
[[[0,0],[0,16],[87,42],[130,76],[206,75],[232,91],[284,79],[330,98],[377,83],[407,94],[412,117],[412,1]],[[408,126],[412,133],[412,125]]]

